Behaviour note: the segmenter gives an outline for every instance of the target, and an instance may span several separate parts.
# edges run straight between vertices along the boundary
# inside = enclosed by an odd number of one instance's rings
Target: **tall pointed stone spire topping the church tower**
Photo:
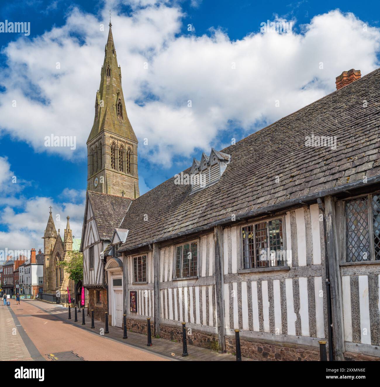
[[[87,143],[102,130],[137,142],[135,132],[129,122],[122,90],[122,72],[117,63],[110,21],[104,62],[101,68],[100,87],[96,93],[95,116]]]

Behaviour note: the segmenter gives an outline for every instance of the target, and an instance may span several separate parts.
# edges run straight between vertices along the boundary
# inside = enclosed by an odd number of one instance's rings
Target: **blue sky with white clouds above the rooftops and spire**
[[[63,220],[70,215],[79,237],[86,139],[108,33],[98,25],[108,23],[109,9],[127,113],[139,139],[142,194],[212,146],[222,149],[334,91],[343,70],[365,75],[379,66],[375,1],[22,4],[0,4],[0,22],[31,23],[29,36],[0,33],[0,250],[42,247],[50,204]],[[260,23],[267,20],[293,22],[291,36],[264,36]],[[77,149],[44,148],[50,128],[77,135]]]

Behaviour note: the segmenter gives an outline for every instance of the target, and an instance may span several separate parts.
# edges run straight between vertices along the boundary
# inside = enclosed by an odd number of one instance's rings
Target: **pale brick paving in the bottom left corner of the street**
[[[4,305],[0,305],[0,346],[0,361],[33,360],[19,334],[10,307]]]

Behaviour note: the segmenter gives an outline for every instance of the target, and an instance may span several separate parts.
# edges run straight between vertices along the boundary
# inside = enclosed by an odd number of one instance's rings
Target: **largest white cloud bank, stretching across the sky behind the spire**
[[[104,23],[111,3],[103,10]],[[178,36],[183,16],[178,5],[125,3],[135,10],[130,17],[112,15],[113,36],[139,156],[151,163],[170,165],[174,156],[190,157],[196,147],[208,152],[217,146],[220,130],[229,130],[229,122],[249,134],[334,91],[335,77],[343,70],[356,68],[364,75],[378,67],[380,30],[365,31],[362,21],[339,10],[315,16],[301,26],[302,34],[252,33],[231,41],[219,30]],[[36,151],[86,157],[105,30],[99,31],[96,17],[74,9],[63,27],[5,47],[12,71],[0,75],[7,87],[0,127]],[[73,34],[80,34],[84,44]],[[134,103],[151,94],[156,98],[144,106]],[[51,133],[76,135],[77,149],[45,148],[43,139]]]

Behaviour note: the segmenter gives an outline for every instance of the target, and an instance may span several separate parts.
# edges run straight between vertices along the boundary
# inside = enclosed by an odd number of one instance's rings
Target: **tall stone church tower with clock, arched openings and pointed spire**
[[[140,195],[138,141],[125,109],[111,26],[110,22],[95,98],[94,124],[87,140],[87,190],[135,199]]]

